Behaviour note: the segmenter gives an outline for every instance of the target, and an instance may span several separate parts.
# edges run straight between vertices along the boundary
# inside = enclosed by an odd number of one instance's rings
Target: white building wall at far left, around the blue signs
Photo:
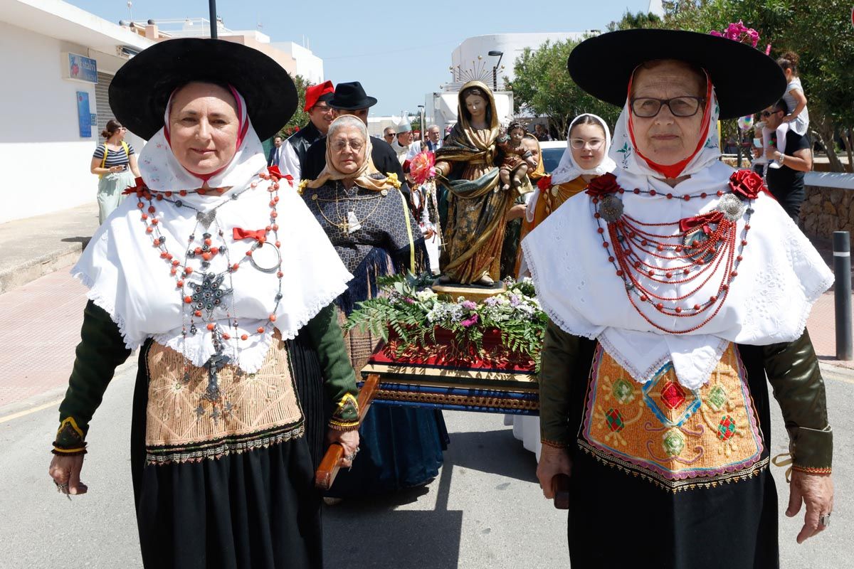
[[[98,133],[79,136],[75,93],[95,86],[61,78],[63,51],[87,55],[83,46],[0,22],[0,223],[94,202],[97,177],[90,173]],[[93,209],[93,213],[97,208]]]

